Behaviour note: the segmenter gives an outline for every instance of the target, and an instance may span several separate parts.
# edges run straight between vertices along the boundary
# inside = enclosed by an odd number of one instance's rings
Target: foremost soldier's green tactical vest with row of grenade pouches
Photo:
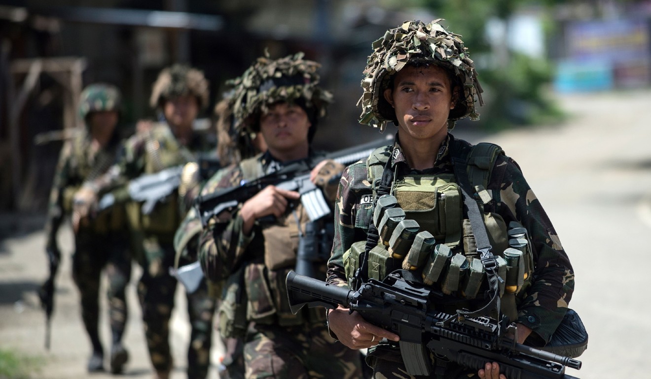
[[[484,205],[480,209],[493,254],[504,258],[506,251],[506,257],[513,260],[509,254],[516,253],[508,249],[516,245],[522,252],[516,268],[510,268],[506,259],[499,261],[503,264],[501,276],[506,279],[508,271],[510,279],[500,288],[501,293],[506,289],[508,294],[503,296],[505,301],[501,308],[514,320],[515,296],[524,294],[522,289],[530,284],[533,257],[526,231],[523,233],[523,228],[517,223],[507,226],[503,218],[493,212],[493,196],[486,189],[495,161],[504,153],[495,144],[480,143],[471,147],[459,140],[452,140],[449,148],[450,154],[466,158],[467,176],[475,189],[475,200]],[[374,199],[388,159],[386,148],[374,151],[367,159],[368,182],[372,183]],[[470,221],[464,215],[464,198],[455,174],[406,174],[398,177],[394,172],[394,175],[391,195],[395,196],[397,204],[392,211],[385,211],[383,219],[374,219],[380,241],[368,252],[367,278],[383,280],[393,270],[411,270],[426,285],[451,295],[450,299],[456,298],[449,306],[444,305],[441,311],[454,313],[460,307],[470,309],[480,304],[484,301],[482,294],[487,287],[486,276],[480,259],[477,259],[475,237]],[[374,209],[367,207],[366,211],[374,212]],[[517,234],[519,238],[510,238],[509,234]],[[354,242],[344,253],[349,284],[352,284],[359,268],[366,244],[367,241]]]

